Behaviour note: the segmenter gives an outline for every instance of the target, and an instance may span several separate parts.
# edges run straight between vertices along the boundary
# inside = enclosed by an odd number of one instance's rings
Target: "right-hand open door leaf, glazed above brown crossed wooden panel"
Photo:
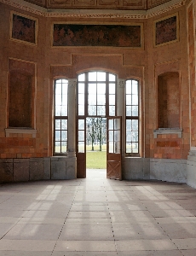
[[[122,179],[121,117],[107,118],[107,177]]]

